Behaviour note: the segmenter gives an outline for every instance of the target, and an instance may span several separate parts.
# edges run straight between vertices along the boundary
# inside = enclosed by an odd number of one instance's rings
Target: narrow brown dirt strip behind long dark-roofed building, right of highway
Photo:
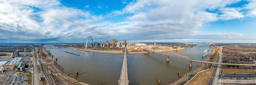
[[[256,74],[256,69],[222,69],[221,74]]]

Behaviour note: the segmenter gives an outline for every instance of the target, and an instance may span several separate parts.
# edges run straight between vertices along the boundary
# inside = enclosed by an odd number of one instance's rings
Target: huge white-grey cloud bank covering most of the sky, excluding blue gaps
[[[200,33],[204,25],[218,20],[243,18],[239,8],[227,8],[234,0],[137,0],[122,10],[93,14],[61,5],[58,0],[4,0],[0,2],[0,41],[84,42],[85,37],[106,40],[110,37],[126,40],[175,39],[255,39],[244,34]],[[52,2],[52,3],[51,3]],[[35,7],[35,8],[34,8]],[[89,6],[85,6],[87,8]],[[97,6],[102,9],[102,6]],[[208,12],[218,10],[217,12]],[[220,12],[221,14],[218,14]],[[126,21],[112,23],[104,17],[124,17]],[[104,16],[104,17],[103,17]],[[11,35],[12,34],[12,35]],[[48,41],[47,41],[48,40]]]

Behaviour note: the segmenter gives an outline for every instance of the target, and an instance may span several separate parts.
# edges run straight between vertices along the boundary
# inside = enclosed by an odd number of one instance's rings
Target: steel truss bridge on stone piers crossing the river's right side
[[[142,48],[142,49],[143,49],[144,51],[149,51],[149,52],[152,52],[152,53],[157,53],[157,54],[166,56],[166,61],[167,61],[167,62],[169,62],[169,60],[170,60],[169,58],[170,58],[170,57],[176,58],[176,59],[187,60],[187,61],[189,61],[189,68],[192,67],[192,62],[195,62],[195,63],[202,63],[202,64],[211,64],[211,65],[256,66],[256,65],[253,65],[253,64],[221,63],[221,62],[207,62],[207,61],[193,60],[193,59],[190,59],[190,58],[187,57],[187,56],[183,56],[183,55],[177,54],[177,53],[174,52],[174,51],[154,51],[154,50],[148,50],[148,49],[145,49],[145,48]]]

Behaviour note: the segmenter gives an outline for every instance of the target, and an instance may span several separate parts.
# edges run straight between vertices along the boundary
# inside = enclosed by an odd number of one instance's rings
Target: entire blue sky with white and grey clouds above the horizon
[[[256,0],[0,0],[0,43],[84,43],[87,37],[256,42]]]

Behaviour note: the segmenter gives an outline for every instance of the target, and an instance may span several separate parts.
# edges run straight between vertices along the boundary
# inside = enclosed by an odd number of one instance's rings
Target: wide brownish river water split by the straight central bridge
[[[202,49],[199,49],[201,46]],[[186,48],[175,51],[178,54],[189,56],[191,59],[204,60],[202,56],[209,45],[197,45],[192,48]],[[79,72],[79,76],[70,74],[70,77],[79,82],[85,82],[90,85],[117,85],[120,77],[123,54],[107,54],[96,52],[85,52],[69,48],[49,49],[55,58],[58,58],[58,64],[67,70],[74,69]],[[75,54],[64,53],[68,51]],[[195,68],[197,63],[192,63],[189,68],[189,61],[170,58],[166,62],[166,57],[159,54],[127,54],[128,79],[129,85],[158,85],[157,78],[168,83],[174,82],[182,76],[177,73],[186,74]],[[207,57],[205,58],[207,59]],[[161,85],[165,85],[161,82]]]

